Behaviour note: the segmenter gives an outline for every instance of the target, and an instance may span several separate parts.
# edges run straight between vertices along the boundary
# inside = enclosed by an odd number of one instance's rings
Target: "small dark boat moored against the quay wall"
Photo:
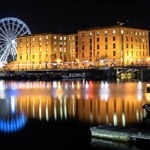
[[[63,79],[85,78],[85,73],[67,73],[62,74]]]

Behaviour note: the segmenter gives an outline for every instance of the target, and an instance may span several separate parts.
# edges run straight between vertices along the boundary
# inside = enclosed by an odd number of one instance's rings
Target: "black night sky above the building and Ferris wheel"
[[[18,18],[32,33],[73,32],[118,21],[150,29],[149,1],[97,1],[5,0],[0,4],[0,18]]]

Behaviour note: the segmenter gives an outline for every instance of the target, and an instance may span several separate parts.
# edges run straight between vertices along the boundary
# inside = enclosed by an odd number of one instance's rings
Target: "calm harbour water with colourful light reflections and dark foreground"
[[[91,126],[145,125],[146,84],[0,81],[0,144],[6,149],[100,149],[92,143]]]

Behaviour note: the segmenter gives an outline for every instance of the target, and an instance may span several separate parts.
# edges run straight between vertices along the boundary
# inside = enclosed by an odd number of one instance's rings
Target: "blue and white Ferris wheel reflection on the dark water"
[[[27,117],[23,112],[17,112],[14,98],[0,99],[0,131],[16,132],[23,128]]]

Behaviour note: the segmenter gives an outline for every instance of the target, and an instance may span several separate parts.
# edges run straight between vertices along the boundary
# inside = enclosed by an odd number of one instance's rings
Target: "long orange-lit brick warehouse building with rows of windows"
[[[146,65],[149,31],[124,26],[78,30],[74,34],[43,33],[17,38],[17,60],[11,70]]]

